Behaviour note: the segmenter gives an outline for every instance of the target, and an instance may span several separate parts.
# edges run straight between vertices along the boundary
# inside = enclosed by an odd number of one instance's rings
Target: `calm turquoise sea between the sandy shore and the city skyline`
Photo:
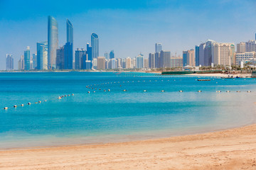
[[[125,72],[0,73],[0,148],[144,140],[255,123],[255,79],[196,79]],[[58,99],[68,94],[74,96]]]

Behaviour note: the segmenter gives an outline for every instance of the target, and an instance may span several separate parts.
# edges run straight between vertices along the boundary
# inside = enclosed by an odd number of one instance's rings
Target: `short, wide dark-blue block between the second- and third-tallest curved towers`
[[[86,51],[82,48],[81,50],[78,48],[75,51],[75,69],[85,69],[84,64],[87,61]]]

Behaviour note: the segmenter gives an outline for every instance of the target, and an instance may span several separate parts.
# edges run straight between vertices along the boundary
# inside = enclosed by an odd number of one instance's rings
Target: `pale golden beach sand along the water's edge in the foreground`
[[[1,150],[0,169],[256,169],[256,125],[158,140]]]

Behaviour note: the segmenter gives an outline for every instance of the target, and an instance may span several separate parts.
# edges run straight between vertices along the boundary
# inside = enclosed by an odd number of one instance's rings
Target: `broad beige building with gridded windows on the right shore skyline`
[[[230,42],[213,42],[213,64],[234,65],[235,64],[235,44]]]

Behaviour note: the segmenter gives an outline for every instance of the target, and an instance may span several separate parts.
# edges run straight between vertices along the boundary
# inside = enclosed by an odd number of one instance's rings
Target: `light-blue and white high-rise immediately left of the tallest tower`
[[[37,67],[36,69],[48,69],[48,42],[37,42]]]

